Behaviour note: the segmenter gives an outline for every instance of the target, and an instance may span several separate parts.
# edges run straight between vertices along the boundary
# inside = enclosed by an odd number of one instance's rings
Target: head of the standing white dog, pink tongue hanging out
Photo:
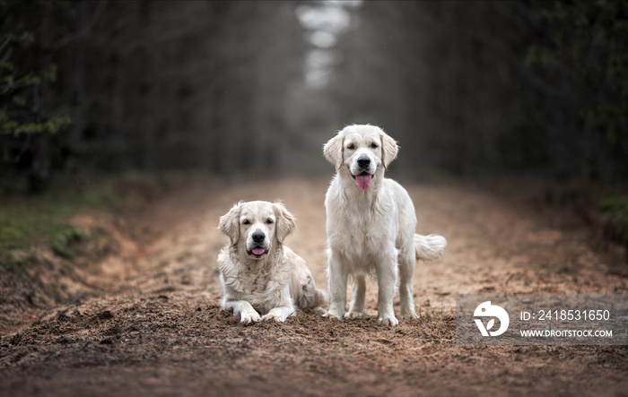
[[[397,157],[397,142],[375,125],[347,125],[323,148],[325,157],[338,172],[346,168],[361,189],[388,168]]]

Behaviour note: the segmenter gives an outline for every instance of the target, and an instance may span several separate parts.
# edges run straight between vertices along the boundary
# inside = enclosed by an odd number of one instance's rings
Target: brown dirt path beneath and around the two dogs
[[[370,316],[343,323],[306,312],[244,326],[220,311],[217,220],[239,200],[283,199],[297,217],[286,243],[326,288],[327,184],[209,184],[120,220],[139,237],[88,276],[109,293],[2,335],[0,395],[626,395],[625,347],[455,344],[457,293],[628,293],[586,230],[456,184],[405,184],[417,231],[449,240],[417,265],[422,318],[379,326],[372,284]]]

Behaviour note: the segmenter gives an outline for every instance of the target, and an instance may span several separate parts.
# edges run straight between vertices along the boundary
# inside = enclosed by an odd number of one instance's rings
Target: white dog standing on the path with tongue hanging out
[[[397,157],[397,142],[377,126],[348,125],[323,151],[337,170],[325,198],[331,295],[325,315],[338,319],[362,316],[364,277],[375,273],[379,324],[399,324],[393,310],[398,272],[401,318],[418,318],[412,292],[414,263],[439,258],[447,240],[414,234],[416,216],[410,196],[397,182],[384,177],[384,170]],[[345,315],[349,276],[353,277],[353,298]]]

